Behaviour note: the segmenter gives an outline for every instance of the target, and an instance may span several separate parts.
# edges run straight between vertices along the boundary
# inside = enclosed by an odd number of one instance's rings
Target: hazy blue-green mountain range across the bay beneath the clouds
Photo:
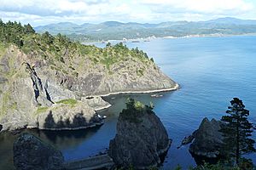
[[[185,37],[212,35],[242,35],[256,33],[256,20],[236,18],[219,18],[198,22],[170,21],[160,24],[141,24],[136,22],[122,23],[107,21],[100,24],[61,22],[47,26],[38,26],[36,31],[49,31],[51,34],[65,34],[81,42],[122,40],[147,37]]]

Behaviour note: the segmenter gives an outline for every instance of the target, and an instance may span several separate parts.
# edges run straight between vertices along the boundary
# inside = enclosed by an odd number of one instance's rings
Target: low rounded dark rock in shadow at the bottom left
[[[14,144],[14,164],[17,170],[61,170],[61,151],[45,144],[32,134],[23,133]]]

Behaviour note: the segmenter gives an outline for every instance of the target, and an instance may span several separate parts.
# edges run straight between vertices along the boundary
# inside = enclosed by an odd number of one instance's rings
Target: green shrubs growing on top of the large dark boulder
[[[126,108],[120,113],[126,120],[134,123],[143,122],[140,118],[144,114],[153,114],[154,105],[150,103],[150,105],[144,105],[142,102],[137,101],[135,99],[127,99]]]

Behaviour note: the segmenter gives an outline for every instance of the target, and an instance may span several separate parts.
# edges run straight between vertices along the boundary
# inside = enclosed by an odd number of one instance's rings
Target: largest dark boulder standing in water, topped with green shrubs
[[[119,167],[156,167],[171,142],[166,128],[152,108],[127,105],[127,109],[119,115],[117,133],[109,144],[109,156]]]

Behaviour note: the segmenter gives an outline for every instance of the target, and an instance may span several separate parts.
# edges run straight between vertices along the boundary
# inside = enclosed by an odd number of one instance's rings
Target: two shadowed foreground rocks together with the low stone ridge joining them
[[[119,115],[117,133],[106,153],[79,161],[64,161],[61,151],[30,133],[22,133],[14,143],[16,169],[148,169],[164,161],[172,139],[152,107],[133,99]],[[40,154],[38,154],[40,153]]]

